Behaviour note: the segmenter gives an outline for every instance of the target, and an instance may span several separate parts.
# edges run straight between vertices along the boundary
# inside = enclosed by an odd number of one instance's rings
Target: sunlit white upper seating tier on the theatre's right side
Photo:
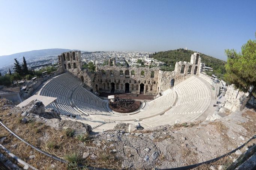
[[[196,120],[211,103],[209,88],[196,76],[182,81],[173,89],[178,95],[176,105],[163,115],[143,120],[143,124],[155,127],[164,124],[175,124],[176,120],[180,123]]]

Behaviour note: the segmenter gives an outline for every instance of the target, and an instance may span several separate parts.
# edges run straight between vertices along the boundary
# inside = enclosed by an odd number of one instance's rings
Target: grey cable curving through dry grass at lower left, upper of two
[[[50,157],[50,158],[53,158],[54,160],[57,160],[57,161],[60,161],[62,163],[68,163],[67,161],[59,158],[59,157],[56,157],[54,155],[51,155],[49,154],[48,152],[45,152],[45,151],[42,151],[41,149],[37,148],[36,146],[30,144],[29,142],[27,142],[26,140],[22,139],[20,136],[16,135],[14,132],[12,132],[11,129],[9,129],[7,126],[5,126],[5,124],[2,123],[2,121],[0,121],[0,124],[6,129],[8,130],[12,135],[14,135],[15,137],[17,137],[18,139],[20,139],[22,142],[26,143],[27,145],[29,145],[31,148],[35,149],[36,151],[38,152],[41,152],[42,154]],[[79,165],[79,167],[86,167],[86,166],[82,166],[82,165]],[[103,169],[103,168],[96,168],[96,167],[86,167],[87,169],[91,169],[91,170],[107,170],[107,169]]]

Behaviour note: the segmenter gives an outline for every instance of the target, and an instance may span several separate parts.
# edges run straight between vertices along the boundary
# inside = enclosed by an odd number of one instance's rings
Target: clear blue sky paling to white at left
[[[36,49],[196,50],[254,39],[256,0],[0,0],[0,55]]]

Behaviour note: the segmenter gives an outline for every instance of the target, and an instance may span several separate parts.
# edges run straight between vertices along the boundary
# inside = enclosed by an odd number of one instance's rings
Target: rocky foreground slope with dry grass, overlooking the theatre
[[[255,135],[255,113],[255,108],[247,107],[215,121],[194,121],[154,129],[122,123],[113,130],[95,133],[90,132],[89,125],[61,120],[55,111],[44,111],[41,103],[34,101],[22,109],[0,111],[0,119],[28,142],[69,164],[34,151],[9,135],[2,126],[0,142],[38,169],[74,169],[77,164],[109,169],[167,169],[207,161],[242,145]],[[196,169],[227,169],[255,142],[254,139],[236,153]]]

